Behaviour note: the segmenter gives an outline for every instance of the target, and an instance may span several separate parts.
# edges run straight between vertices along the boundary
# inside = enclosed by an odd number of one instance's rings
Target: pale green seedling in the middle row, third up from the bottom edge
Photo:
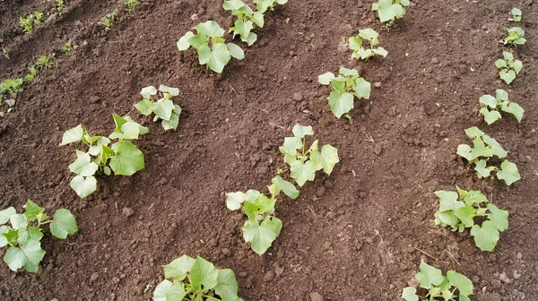
[[[306,136],[313,135],[312,126],[293,126],[293,137],[286,137],[280,151],[284,154],[284,162],[290,165],[290,176],[302,187],[307,181],[314,181],[316,172],[323,169],[331,175],[336,163],[340,162],[338,150],[325,144],[318,150],[318,141],[306,149]]]

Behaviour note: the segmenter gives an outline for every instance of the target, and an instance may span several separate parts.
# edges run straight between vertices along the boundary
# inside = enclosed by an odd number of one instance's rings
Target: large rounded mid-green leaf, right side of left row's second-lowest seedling
[[[132,176],[143,169],[143,153],[133,143],[118,142],[112,149],[116,155],[110,159],[110,168],[115,175]]]

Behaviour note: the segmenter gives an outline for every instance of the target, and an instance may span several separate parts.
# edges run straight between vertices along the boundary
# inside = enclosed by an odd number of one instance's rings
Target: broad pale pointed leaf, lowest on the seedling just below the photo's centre
[[[250,247],[256,254],[265,254],[265,251],[273,245],[273,241],[279,236],[282,229],[282,221],[275,217],[264,219],[261,224],[256,220],[247,220],[243,226],[243,237],[250,243]]]

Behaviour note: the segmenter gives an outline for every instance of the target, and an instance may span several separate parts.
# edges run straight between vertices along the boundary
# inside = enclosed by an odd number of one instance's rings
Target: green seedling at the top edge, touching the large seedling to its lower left
[[[224,1],[222,8],[226,11],[230,11],[232,15],[237,16],[237,20],[234,22],[233,27],[230,28],[230,32],[233,32],[233,37],[237,35],[241,40],[251,46],[256,42],[256,33],[251,30],[254,29],[254,25],[257,27],[264,27],[264,14],[260,12],[254,12],[247,4],[241,0]]]

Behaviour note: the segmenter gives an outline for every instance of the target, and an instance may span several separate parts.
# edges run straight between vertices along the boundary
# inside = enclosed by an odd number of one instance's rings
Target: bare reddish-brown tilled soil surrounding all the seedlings
[[[0,128],[7,126],[0,133],[0,208],[22,209],[27,199],[48,211],[66,207],[81,231],[66,242],[46,236],[37,274],[0,264],[0,298],[149,300],[161,265],[189,254],[240,273],[245,300],[308,300],[311,292],[397,300],[421,259],[467,275],[474,300],[538,300],[538,3],[412,2],[404,21],[387,31],[369,1],[290,1],[270,13],[256,30],[261,40],[221,79],[175,45],[198,22],[229,25],[221,1],[145,2],[111,30],[98,23],[121,2],[72,1],[30,35],[22,35],[18,16],[51,4],[1,2],[2,46],[11,59],[0,57],[0,79],[21,76],[36,56],[59,54],[67,39],[77,47],[58,55],[0,119]],[[528,41],[516,50],[524,70],[508,88],[493,63],[512,7],[524,12]],[[381,32],[386,59],[360,63],[340,50],[342,37],[367,27]],[[318,74],[341,65],[380,83],[369,101],[356,102],[353,125],[331,114],[328,90],[317,83]],[[175,133],[132,107],[141,88],[161,83],[181,90],[176,101],[185,113]],[[525,108],[521,124],[507,116],[487,126],[477,116],[478,98],[499,88]],[[100,178],[98,192],[80,200],[69,187],[74,149],[57,145],[81,123],[109,133],[112,113],[150,127],[137,142],[146,168]],[[224,194],[265,189],[283,167],[278,146],[296,123],[312,125],[320,142],[337,147],[341,163],[305,185],[297,200],[277,203],[282,234],[258,256],[242,240],[244,217],[226,209]],[[456,157],[473,125],[509,150],[521,181],[508,188],[478,180]],[[510,212],[494,252],[480,252],[468,233],[433,224],[433,192],[456,184],[487,192]]]

